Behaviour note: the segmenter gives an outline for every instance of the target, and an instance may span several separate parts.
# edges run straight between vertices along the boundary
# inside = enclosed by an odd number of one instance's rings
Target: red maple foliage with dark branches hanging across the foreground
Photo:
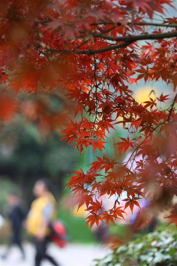
[[[142,198],[151,198],[156,211],[170,209],[177,195],[177,94],[162,93],[139,103],[130,89],[138,80],[161,80],[176,90],[177,18],[153,20],[173,4],[170,0],[1,0],[3,91],[40,95],[61,89],[74,102],[75,115],[62,130],[61,140],[81,154],[88,146],[93,152],[104,150],[108,133],[118,124],[127,131],[114,143],[115,158],[97,157],[87,172],[73,171],[67,183],[78,208],[86,204],[90,228],[104,220],[108,225],[124,219],[126,209],[133,213]],[[19,112],[17,97],[8,97],[3,100],[3,119]],[[166,103],[164,108],[161,103]],[[45,108],[39,108],[38,114]],[[120,161],[126,152],[131,154],[128,160]],[[108,210],[102,206],[105,195],[115,196]],[[119,206],[120,199],[124,207]],[[168,218],[173,223],[177,216],[174,210],[171,213]]]

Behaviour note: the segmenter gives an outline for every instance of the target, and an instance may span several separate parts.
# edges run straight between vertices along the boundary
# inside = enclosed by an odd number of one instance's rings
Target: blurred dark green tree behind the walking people
[[[73,169],[77,155],[58,140],[58,133],[43,136],[35,123],[21,115],[1,129],[0,173],[20,187],[28,204],[33,184],[42,176],[53,180],[56,196],[64,189],[63,179]]]

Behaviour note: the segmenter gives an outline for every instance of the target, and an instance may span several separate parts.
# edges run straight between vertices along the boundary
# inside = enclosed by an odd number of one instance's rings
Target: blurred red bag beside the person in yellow
[[[68,242],[67,232],[64,225],[60,221],[54,221],[51,224],[51,241],[57,246],[63,248]]]

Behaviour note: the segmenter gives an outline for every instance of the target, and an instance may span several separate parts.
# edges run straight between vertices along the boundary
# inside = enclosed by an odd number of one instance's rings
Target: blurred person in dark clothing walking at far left
[[[8,195],[7,202],[10,205],[8,217],[12,226],[12,238],[10,240],[7,251],[1,257],[6,258],[9,254],[11,246],[16,244],[20,248],[20,251],[22,253],[22,259],[25,259],[25,252],[21,243],[22,221],[25,218],[24,209],[22,207],[22,203],[20,202],[20,198],[15,193],[11,193]]]

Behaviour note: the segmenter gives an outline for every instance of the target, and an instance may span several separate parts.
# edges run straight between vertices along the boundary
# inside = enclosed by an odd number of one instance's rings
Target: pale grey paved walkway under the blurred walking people
[[[26,259],[21,259],[19,249],[14,246],[9,257],[0,259],[1,266],[34,266],[35,250],[30,243],[24,244]],[[1,246],[0,253],[3,254],[5,246]],[[94,265],[93,259],[102,258],[108,252],[107,248],[100,244],[69,244],[64,249],[60,249],[54,244],[48,247],[48,253],[53,256],[61,266],[91,266]],[[41,266],[51,266],[51,264],[43,260]]]

